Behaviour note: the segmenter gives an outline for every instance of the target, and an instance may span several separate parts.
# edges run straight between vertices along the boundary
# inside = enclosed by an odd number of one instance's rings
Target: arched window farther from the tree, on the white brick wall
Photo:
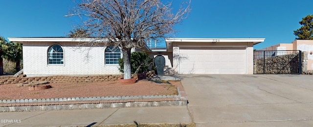
[[[63,64],[64,53],[60,45],[54,44],[48,50],[48,64]]]

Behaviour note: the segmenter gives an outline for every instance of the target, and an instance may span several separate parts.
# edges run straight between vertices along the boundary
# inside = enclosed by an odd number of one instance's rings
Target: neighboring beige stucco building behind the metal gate
[[[294,40],[291,43],[279,43],[260,50],[301,50],[308,52],[307,70],[313,70],[313,40]]]

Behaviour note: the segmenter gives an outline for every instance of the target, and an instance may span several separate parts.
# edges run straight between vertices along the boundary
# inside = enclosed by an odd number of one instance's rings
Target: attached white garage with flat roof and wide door
[[[168,38],[177,74],[253,74],[253,45],[265,38]]]

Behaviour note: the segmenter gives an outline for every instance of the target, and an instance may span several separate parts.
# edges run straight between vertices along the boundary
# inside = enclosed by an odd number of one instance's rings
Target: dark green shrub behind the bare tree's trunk
[[[124,73],[124,59],[121,58],[118,60],[119,70]],[[131,69],[132,74],[143,73],[149,71],[149,68],[155,70],[153,59],[149,57],[148,54],[144,52],[133,52],[131,54]]]

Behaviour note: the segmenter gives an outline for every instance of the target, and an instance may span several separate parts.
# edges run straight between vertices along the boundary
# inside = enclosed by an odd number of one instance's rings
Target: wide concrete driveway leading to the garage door
[[[312,75],[181,75],[197,127],[312,127]]]

